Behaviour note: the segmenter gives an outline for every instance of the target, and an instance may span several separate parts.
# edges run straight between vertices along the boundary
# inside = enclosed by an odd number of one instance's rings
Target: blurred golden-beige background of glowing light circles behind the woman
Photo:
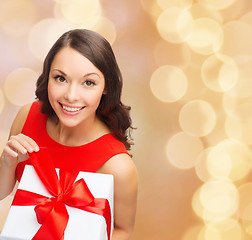
[[[252,239],[252,1],[1,0],[0,151],[46,53],[73,28],[107,38],[124,77],[133,240]]]

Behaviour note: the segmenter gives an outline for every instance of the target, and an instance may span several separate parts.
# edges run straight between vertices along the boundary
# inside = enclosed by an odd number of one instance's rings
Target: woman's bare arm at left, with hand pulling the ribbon
[[[20,109],[13,121],[9,140],[0,157],[0,199],[8,196],[16,183],[15,171],[19,162],[28,158],[28,153],[37,150],[37,144],[29,137],[21,134],[31,105]]]

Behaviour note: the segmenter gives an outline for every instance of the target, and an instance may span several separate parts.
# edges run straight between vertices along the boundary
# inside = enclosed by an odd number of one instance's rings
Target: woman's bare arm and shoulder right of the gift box
[[[114,175],[114,231],[112,240],[129,240],[135,225],[137,206],[137,170],[127,154],[106,162],[99,172]]]

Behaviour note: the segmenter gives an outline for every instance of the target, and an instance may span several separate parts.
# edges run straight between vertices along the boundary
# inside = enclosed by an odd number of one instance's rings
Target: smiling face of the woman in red
[[[92,62],[70,47],[62,48],[51,64],[49,102],[61,124],[74,127],[96,117],[105,79]]]

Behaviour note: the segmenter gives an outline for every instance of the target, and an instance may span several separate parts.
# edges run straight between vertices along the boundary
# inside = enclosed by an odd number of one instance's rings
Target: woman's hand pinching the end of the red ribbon
[[[3,163],[16,166],[29,158],[29,153],[39,151],[37,143],[30,137],[20,133],[11,136],[3,150]]]

